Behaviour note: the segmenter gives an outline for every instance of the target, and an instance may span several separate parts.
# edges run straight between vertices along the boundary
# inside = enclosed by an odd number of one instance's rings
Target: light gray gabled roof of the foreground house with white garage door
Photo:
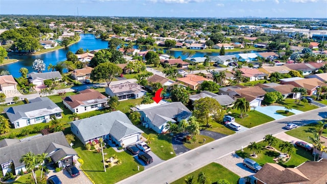
[[[116,140],[121,140],[124,136],[133,133],[143,133],[142,130],[132,124],[126,114],[119,110],[74,121],[72,124],[78,128],[84,141],[108,133],[114,136]]]

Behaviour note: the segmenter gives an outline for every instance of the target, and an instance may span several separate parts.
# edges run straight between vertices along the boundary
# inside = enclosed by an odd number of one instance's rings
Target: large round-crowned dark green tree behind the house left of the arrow
[[[90,78],[94,81],[105,80],[107,86],[109,87],[109,84],[113,78],[122,72],[123,70],[119,66],[110,62],[105,62],[99,64],[92,70]]]

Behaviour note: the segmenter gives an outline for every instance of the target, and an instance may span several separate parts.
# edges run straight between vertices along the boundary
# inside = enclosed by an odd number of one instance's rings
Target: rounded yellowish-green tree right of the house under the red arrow
[[[210,97],[201,98],[196,100],[193,105],[194,116],[205,122],[207,127],[212,118],[219,122],[222,121],[224,110],[216,99]]]

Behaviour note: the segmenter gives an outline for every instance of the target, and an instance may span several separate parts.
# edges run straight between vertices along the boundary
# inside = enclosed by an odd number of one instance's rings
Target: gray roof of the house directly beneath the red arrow
[[[189,116],[191,116],[191,114],[192,114],[192,112],[181,102],[167,103],[167,104],[150,107],[150,108],[146,108],[146,109],[142,109],[142,110],[138,110],[138,111],[143,111],[148,116],[149,120],[152,123],[156,123],[154,121],[156,115],[160,115],[161,118],[162,117],[169,118],[167,120],[170,120],[173,118],[185,119],[185,118],[188,118]],[[156,123],[156,124],[158,124],[158,123]]]

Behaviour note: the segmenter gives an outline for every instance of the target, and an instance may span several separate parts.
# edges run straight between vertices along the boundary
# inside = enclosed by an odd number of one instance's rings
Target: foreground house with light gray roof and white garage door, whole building
[[[71,131],[84,145],[98,142],[102,138],[103,141],[119,147],[134,145],[141,140],[141,133],[144,133],[120,110],[73,121]]]

